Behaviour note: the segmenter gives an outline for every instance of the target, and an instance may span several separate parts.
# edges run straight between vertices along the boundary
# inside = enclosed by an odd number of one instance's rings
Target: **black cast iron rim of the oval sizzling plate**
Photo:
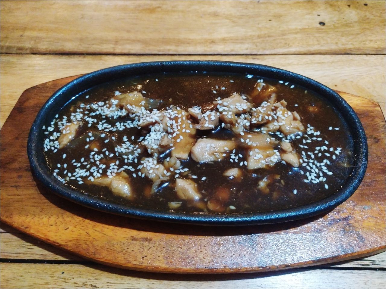
[[[354,167],[352,174],[345,181],[342,188],[330,197],[321,201],[286,210],[252,214],[171,213],[161,210],[132,208],[85,195],[84,193],[78,192],[62,184],[51,175],[43,154],[44,134],[42,126],[50,123],[54,116],[71,98],[93,86],[122,77],[132,77],[141,74],[159,72],[182,71],[253,74],[256,76],[280,79],[293,84],[298,84],[320,94],[322,97],[325,97],[342,114],[351,130],[354,141]],[[143,62],[110,67],[81,76],[56,91],[41,108],[34,123],[32,124],[28,138],[27,150],[32,171],[36,175],[37,179],[40,180],[47,188],[52,190],[52,192],[68,200],[103,212],[127,217],[203,225],[252,225],[279,223],[311,217],[327,212],[347,200],[355,192],[364,177],[367,167],[367,139],[362,124],[354,110],[336,92],[319,82],[283,69],[259,64],[220,61]]]

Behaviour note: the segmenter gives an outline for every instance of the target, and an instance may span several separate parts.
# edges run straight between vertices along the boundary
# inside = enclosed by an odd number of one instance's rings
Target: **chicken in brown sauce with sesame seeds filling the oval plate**
[[[177,212],[267,212],[322,200],[352,171],[339,112],[294,84],[164,73],[77,96],[49,126],[52,174],[85,194]]]

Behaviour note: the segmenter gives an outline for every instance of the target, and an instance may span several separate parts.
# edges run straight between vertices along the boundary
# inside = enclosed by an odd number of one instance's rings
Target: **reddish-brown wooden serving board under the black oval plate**
[[[362,121],[369,164],[361,186],[325,215],[275,225],[204,227],[101,213],[37,183],[30,126],[67,77],[23,92],[1,130],[1,220],[86,259],[171,273],[259,272],[338,262],[386,250],[386,124],[376,102],[339,92]]]

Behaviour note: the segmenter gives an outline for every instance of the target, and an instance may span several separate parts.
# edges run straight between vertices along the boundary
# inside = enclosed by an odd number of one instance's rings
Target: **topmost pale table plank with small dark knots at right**
[[[366,3],[365,6],[363,2],[346,0],[2,1],[0,51],[385,53],[384,1]]]

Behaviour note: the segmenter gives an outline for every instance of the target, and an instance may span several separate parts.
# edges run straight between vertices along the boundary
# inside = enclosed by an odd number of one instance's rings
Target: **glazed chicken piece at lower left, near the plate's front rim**
[[[93,181],[86,181],[86,183],[108,187],[114,195],[129,200],[134,199],[134,192],[130,186],[129,176],[124,171],[117,173],[115,176],[112,176],[112,178],[101,176]]]

